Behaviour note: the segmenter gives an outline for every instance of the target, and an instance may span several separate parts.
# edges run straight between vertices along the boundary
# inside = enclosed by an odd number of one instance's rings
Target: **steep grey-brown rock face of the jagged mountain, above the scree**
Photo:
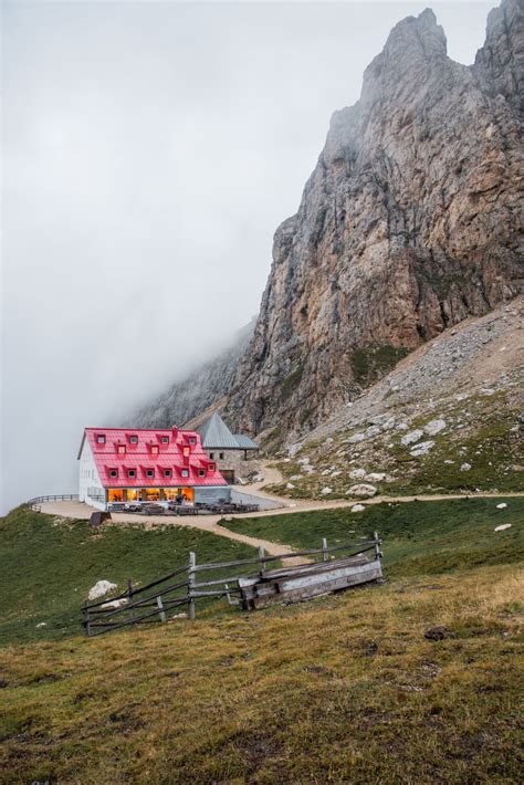
[[[307,429],[517,294],[523,53],[522,0],[490,13],[469,67],[431,10],[394,28],[275,233],[254,336],[214,395],[230,425]]]

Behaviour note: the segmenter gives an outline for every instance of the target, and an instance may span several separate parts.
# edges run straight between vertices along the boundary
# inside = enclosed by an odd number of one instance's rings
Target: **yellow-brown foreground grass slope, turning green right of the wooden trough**
[[[377,527],[382,586],[0,649],[3,781],[520,782],[522,500],[468,504],[234,524],[296,544]]]

